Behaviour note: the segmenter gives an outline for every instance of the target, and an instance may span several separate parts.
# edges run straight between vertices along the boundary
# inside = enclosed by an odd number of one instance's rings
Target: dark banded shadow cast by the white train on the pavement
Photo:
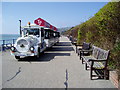
[[[62,47],[63,45],[63,47]],[[53,60],[55,56],[70,56],[69,52],[64,51],[74,51],[73,47],[64,47],[67,45],[71,45],[70,42],[60,42],[52,48],[45,51],[45,53],[41,53],[40,58],[37,57],[25,57],[21,58],[19,62],[28,61],[28,62],[46,62]],[[59,47],[60,46],[60,47]],[[51,52],[50,52],[51,51]],[[60,51],[60,52],[59,52]],[[63,52],[61,52],[63,51]]]

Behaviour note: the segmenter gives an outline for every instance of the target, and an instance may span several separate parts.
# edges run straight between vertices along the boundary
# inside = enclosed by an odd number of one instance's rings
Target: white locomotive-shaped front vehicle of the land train
[[[16,59],[21,56],[40,56],[40,53],[46,49],[45,31],[38,25],[22,27],[22,35],[15,45],[11,47],[11,53]]]

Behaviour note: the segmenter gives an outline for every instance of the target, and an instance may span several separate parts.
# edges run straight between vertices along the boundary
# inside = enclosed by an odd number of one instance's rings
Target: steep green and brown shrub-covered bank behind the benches
[[[120,2],[109,2],[94,17],[65,34],[77,38],[78,44],[89,42],[110,50],[109,66],[120,72]]]

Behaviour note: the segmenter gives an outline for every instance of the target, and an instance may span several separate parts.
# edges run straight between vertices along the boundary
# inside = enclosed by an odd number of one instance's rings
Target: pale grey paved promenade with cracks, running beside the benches
[[[39,59],[17,61],[9,51],[2,53],[3,88],[115,88],[110,80],[90,80],[90,71],[66,37]]]

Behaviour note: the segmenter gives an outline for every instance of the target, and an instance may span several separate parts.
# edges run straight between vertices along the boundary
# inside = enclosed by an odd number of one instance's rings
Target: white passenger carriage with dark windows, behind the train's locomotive
[[[50,48],[59,42],[59,37],[60,37],[59,32],[53,31],[49,28],[44,28],[44,31],[45,31],[45,39],[44,40],[46,42],[47,48]]]

